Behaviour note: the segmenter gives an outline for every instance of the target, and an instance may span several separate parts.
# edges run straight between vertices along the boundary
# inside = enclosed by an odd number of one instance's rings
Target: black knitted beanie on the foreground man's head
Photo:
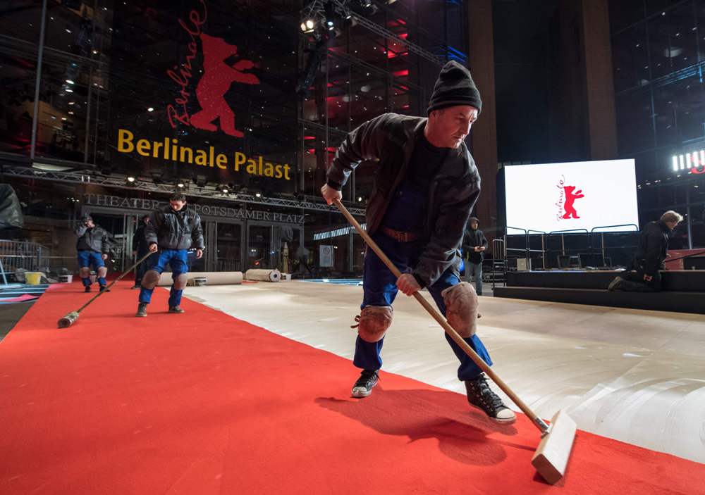
[[[477,108],[478,113],[482,111],[480,92],[477,91],[470,70],[452,60],[441,69],[427,113],[455,105],[470,105]]]

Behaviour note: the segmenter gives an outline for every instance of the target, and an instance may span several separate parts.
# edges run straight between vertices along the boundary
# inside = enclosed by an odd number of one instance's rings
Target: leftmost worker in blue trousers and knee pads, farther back
[[[78,237],[76,242],[78,273],[83,282],[83,287],[85,287],[85,292],[90,292],[91,267],[96,272],[100,290],[104,290],[106,287],[105,275],[108,272],[104,260],[108,257],[110,250],[108,232],[102,227],[95,225],[90,215],[86,215],[76,227],[75,234]]]

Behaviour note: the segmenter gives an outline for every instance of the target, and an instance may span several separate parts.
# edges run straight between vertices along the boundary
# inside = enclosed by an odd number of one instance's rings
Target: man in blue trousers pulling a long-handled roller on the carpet
[[[180,303],[181,294],[186,287],[188,249],[195,246],[196,258],[203,256],[201,218],[186,206],[186,196],[177,192],[169,198],[169,206],[154,212],[145,227],[145,236],[149,251],[159,251],[159,256],[148,258],[152,263],[142,277],[137,316],[147,316],[147,304],[152,300],[154,287],[157,287],[159,276],[167,263],[171,267],[173,279],[169,294],[169,313],[183,313]]]

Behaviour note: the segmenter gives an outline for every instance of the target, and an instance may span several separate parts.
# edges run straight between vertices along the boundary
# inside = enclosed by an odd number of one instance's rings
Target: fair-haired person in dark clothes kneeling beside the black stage
[[[610,282],[611,291],[658,292],[661,271],[668,256],[668,237],[683,220],[680,213],[667,211],[658,222],[649,222],[639,234],[639,247],[632,260],[632,270],[623,272]]]

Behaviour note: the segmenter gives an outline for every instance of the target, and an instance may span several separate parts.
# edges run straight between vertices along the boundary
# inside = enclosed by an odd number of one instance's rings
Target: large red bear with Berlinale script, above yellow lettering
[[[173,104],[166,106],[171,128],[177,123],[196,127],[197,129],[216,132],[219,121],[220,130],[233,137],[243,137],[242,131],[235,129],[235,112],[225,99],[233,82],[240,84],[259,84],[256,75],[245,71],[252,69],[255,63],[240,58],[233,65],[228,58],[238,56],[238,46],[228,44],[222,38],[216,38],[203,32],[202,27],[208,19],[205,0],[199,0],[200,8],[188,14],[188,23],[179,19],[179,25],[188,33],[190,43],[187,46],[185,60],[180,65],[166,71],[166,75],[176,82],[179,93]],[[203,75],[196,85],[196,99],[201,107],[193,115],[188,112],[191,99],[192,77],[196,72],[194,60],[198,54],[199,44],[203,58]]]

